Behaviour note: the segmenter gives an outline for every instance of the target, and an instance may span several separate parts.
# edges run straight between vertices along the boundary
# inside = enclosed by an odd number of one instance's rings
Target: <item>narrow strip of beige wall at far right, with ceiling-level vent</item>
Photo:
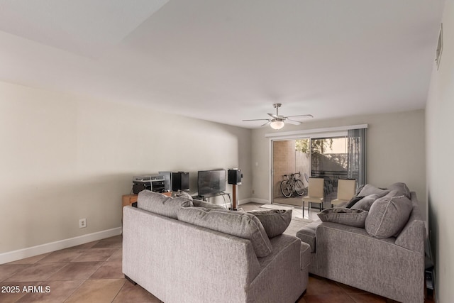
[[[454,1],[445,1],[443,53],[426,106],[428,224],[438,303],[454,302]]]

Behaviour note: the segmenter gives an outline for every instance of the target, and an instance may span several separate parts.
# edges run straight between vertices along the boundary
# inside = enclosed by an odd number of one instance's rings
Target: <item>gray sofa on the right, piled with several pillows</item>
[[[394,197],[388,197],[393,194]],[[394,201],[394,204],[387,204],[388,210],[395,211],[400,200],[406,199],[396,197],[399,194],[403,193],[389,192],[381,198],[385,202]],[[372,209],[376,212],[374,204],[378,199],[370,205],[365,226],[334,223],[336,220],[316,221],[298,231],[301,241],[311,246],[309,272],[399,302],[424,302],[426,229],[416,194],[408,191],[404,195],[411,203],[409,216],[393,236],[371,236],[367,230],[367,219],[370,219]],[[379,223],[384,221],[386,218]]]

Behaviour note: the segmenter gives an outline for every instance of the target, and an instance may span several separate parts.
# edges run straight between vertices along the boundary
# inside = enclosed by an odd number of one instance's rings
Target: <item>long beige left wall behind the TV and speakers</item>
[[[250,197],[248,129],[5,82],[0,97],[0,253],[121,226],[133,175],[187,171],[196,192],[197,170],[239,167]]]

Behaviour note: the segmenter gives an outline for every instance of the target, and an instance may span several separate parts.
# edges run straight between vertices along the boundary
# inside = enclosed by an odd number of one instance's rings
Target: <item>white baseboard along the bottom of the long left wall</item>
[[[32,246],[29,248],[23,248],[19,250],[9,251],[7,253],[0,253],[0,264],[21,260],[24,258],[33,257],[35,255],[41,255],[43,253],[50,253],[55,250],[64,248],[70,248],[72,246],[78,246],[80,244],[89,243],[92,241],[98,241],[104,238],[121,235],[121,227],[107,229],[106,231],[98,231],[96,233],[89,233],[88,235],[78,236],[65,240],[50,242],[41,244],[38,246]]]

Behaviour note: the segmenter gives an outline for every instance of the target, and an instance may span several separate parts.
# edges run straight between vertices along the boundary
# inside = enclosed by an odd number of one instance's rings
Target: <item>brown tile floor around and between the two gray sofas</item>
[[[260,204],[241,207],[249,211],[258,209]],[[298,210],[295,212],[298,216]],[[313,214],[316,211],[311,211],[311,217]],[[122,237],[115,236],[0,265],[0,302],[160,302],[124,278],[121,246]],[[394,301],[310,275],[306,294],[298,302]]]

